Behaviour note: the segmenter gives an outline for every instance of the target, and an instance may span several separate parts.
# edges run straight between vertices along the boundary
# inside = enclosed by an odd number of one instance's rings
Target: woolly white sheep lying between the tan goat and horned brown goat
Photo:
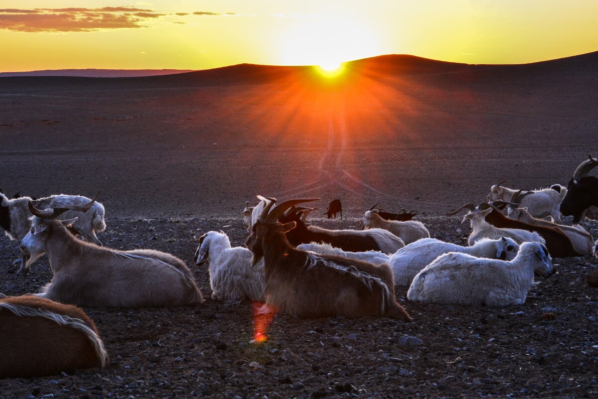
[[[194,261],[209,263],[212,298],[218,301],[264,301],[264,262],[252,267],[252,253],[244,247],[231,248],[224,232],[209,231],[199,238]]]

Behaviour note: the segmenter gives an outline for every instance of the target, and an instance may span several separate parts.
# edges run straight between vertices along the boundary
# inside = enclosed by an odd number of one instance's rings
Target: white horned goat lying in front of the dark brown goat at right
[[[517,244],[523,244],[527,241],[538,242],[544,244],[546,241],[537,232],[522,230],[522,229],[504,229],[498,228],[486,222],[486,215],[492,212],[492,208],[485,210],[473,210],[463,216],[463,222],[469,219],[471,222],[472,232],[469,235],[468,244],[473,245],[475,241],[482,238],[512,238]]]

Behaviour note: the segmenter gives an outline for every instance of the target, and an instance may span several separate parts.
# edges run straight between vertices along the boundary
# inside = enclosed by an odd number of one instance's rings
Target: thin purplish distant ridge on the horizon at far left
[[[27,72],[0,72],[0,77],[12,76],[76,76],[76,77],[141,77],[181,74],[195,69],[44,69]]]

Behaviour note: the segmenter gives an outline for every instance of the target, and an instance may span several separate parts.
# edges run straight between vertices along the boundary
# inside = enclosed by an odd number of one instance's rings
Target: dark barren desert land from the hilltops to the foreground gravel
[[[193,264],[203,232],[222,229],[243,244],[240,212],[256,194],[321,197],[321,208],[340,198],[343,221],[308,219],[329,228],[359,228],[375,202],[415,208],[432,237],[465,244],[469,226],[443,215],[485,200],[499,179],[566,185],[598,153],[597,110],[598,53],[509,66],[380,58],[350,66],[338,83],[305,68],[243,65],[0,78],[4,192],[101,189],[103,244],[179,256],[206,298],[187,308],[86,309],[111,364],[0,380],[0,396],[598,397],[598,291],[585,283],[598,263],[589,255],[554,259],[559,273],[536,277],[521,306],[410,303],[398,288],[411,324],[277,315],[264,344],[250,343],[251,304],[212,300],[207,268]],[[0,292],[50,281],[47,258],[23,277],[18,257],[18,243],[2,235]],[[404,345],[404,335],[421,342]]]

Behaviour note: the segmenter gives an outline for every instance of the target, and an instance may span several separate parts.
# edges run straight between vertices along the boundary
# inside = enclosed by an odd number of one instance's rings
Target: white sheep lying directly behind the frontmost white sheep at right
[[[409,286],[423,268],[440,255],[449,252],[467,253],[476,258],[501,259],[511,261],[517,256],[519,246],[512,238],[501,237],[495,240],[482,238],[471,247],[446,243],[436,238],[422,238],[399,249],[388,259],[395,285]]]

